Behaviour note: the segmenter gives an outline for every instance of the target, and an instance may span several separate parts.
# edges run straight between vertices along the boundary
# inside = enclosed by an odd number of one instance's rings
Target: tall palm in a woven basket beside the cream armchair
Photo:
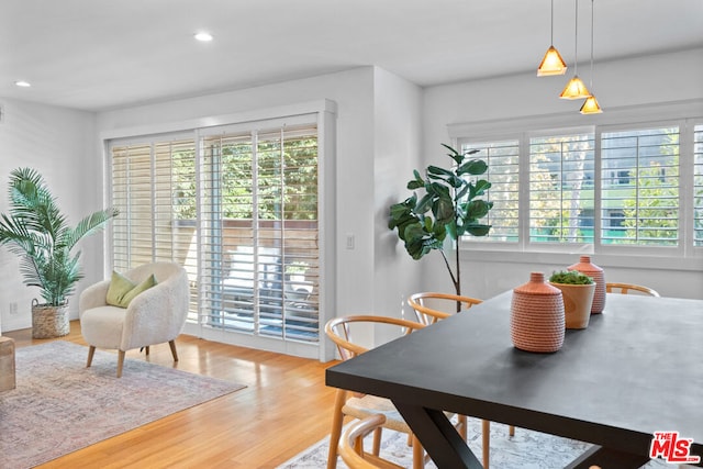
[[[82,278],[80,250],[85,236],[101,230],[116,209],[97,211],[68,226],[42,176],[31,168],[10,174],[9,213],[0,215],[0,245],[20,256],[24,284],[38,287],[43,302],[32,302],[32,337],[68,334],[68,298]]]

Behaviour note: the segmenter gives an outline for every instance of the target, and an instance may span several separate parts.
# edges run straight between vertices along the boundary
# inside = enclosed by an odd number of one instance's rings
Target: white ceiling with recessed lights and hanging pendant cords
[[[571,66],[574,0],[554,3]],[[703,47],[703,0],[594,8],[596,63]],[[581,67],[590,9],[579,1]],[[99,111],[368,65],[420,86],[518,74],[549,46],[549,0],[0,0],[0,97]],[[201,29],[215,40],[193,41]]]

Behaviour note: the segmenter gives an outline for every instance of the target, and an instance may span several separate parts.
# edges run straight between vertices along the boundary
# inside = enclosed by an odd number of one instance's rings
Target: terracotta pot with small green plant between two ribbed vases
[[[561,290],[566,328],[588,327],[595,292],[593,279],[578,270],[562,270],[554,272],[549,283]]]

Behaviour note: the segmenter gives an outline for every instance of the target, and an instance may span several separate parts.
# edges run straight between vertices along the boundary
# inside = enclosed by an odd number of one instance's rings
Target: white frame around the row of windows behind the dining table
[[[603,245],[601,243],[601,135],[617,130],[679,126],[679,245],[678,246],[626,246]],[[595,139],[594,186],[594,243],[592,245],[546,245],[528,243],[528,163],[520,168],[520,239],[517,243],[492,242],[464,238],[460,249],[467,250],[467,258],[478,261],[525,261],[562,264],[565,255],[595,254],[602,264],[622,267],[652,267],[683,270],[703,268],[703,246],[694,246],[693,239],[693,131],[703,125],[703,100],[674,102],[658,105],[638,105],[609,110],[596,116],[560,113],[509,120],[477,121],[449,124],[451,141],[458,147],[476,143],[520,141],[521,161],[528,159],[531,135],[556,135],[572,130],[591,126]],[[510,129],[501,132],[501,129]]]

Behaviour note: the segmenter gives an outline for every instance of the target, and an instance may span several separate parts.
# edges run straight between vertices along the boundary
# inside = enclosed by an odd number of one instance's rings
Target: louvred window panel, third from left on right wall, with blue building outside
[[[603,244],[679,243],[679,127],[602,134]]]

